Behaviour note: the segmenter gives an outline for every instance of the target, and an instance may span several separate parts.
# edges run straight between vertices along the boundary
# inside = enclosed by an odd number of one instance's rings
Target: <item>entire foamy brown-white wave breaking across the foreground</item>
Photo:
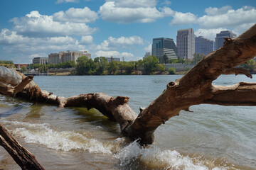
[[[137,141],[125,145],[124,138],[112,142],[90,139],[85,132],[60,131],[48,123],[24,123],[7,121],[4,123],[14,128],[11,132],[23,137],[25,142],[45,145],[50,149],[86,150],[90,153],[109,154],[119,160],[119,169],[183,169],[183,170],[224,170],[235,169],[233,165],[221,166],[215,160],[189,157],[176,150],[161,149],[156,145],[142,147]],[[89,135],[90,136],[90,135]]]

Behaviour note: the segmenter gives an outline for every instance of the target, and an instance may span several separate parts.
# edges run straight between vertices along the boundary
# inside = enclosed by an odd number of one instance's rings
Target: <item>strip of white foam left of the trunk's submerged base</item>
[[[46,145],[50,149],[70,151],[83,149],[92,153],[112,154],[112,146],[104,145],[99,140],[88,139],[75,131],[58,131],[46,123],[9,122],[18,126],[12,130],[14,135],[23,137],[25,142]]]

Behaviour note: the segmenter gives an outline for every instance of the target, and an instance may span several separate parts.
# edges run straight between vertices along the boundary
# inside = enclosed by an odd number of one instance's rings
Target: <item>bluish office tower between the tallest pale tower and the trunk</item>
[[[215,50],[215,42],[208,40],[202,36],[195,38],[195,52],[196,54],[208,55]]]

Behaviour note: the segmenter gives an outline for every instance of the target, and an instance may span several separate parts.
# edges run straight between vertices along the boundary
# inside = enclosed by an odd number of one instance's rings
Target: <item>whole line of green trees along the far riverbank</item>
[[[138,61],[114,61],[107,62],[106,57],[96,57],[94,60],[82,56],[78,57],[77,63],[75,61],[60,62],[59,64],[29,64],[28,67],[21,67],[21,72],[26,72],[27,69],[37,69],[39,72],[48,72],[48,69],[60,68],[75,68],[72,74],[76,75],[129,75],[138,74],[138,71],[144,70],[143,74],[162,74],[167,72],[169,74],[176,74],[174,67],[166,70],[164,64],[196,64],[203,59],[203,54],[194,54],[193,60],[184,60],[181,58],[169,59],[167,55],[160,57],[156,56],[145,57],[144,60]],[[0,64],[14,64],[12,61],[0,60]],[[5,66],[5,65],[3,65]],[[255,72],[256,62],[254,59],[249,60],[240,67],[248,69],[250,72]],[[186,70],[188,71],[188,70]]]

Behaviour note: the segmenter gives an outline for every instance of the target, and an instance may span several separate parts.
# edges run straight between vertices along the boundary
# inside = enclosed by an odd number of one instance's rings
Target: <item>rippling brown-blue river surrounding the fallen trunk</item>
[[[181,77],[51,76],[34,81],[58,96],[129,96],[129,106],[139,113],[139,107],[154,101],[169,81]],[[255,77],[222,75],[213,84],[256,82]],[[119,125],[95,109],[59,109],[0,96],[0,123],[45,169],[256,169],[255,108],[191,106],[193,113],[181,111],[157,128],[154,144],[147,147],[121,138]],[[2,147],[0,169],[19,169]]]

